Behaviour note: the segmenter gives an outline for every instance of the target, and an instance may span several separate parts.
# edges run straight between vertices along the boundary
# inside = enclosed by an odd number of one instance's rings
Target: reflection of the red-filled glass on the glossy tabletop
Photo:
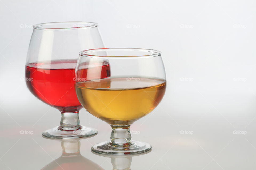
[[[80,154],[80,139],[61,139],[62,155],[42,170],[103,170]]]

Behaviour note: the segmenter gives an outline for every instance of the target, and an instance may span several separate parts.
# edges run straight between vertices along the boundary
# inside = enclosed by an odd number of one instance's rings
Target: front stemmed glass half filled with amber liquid
[[[110,77],[100,79],[106,68]],[[165,89],[165,68],[157,50],[104,48],[80,52],[76,66],[78,99],[89,113],[112,128],[110,141],[91,150],[111,155],[149,151],[150,144],[131,140],[130,125],[157,107]]]

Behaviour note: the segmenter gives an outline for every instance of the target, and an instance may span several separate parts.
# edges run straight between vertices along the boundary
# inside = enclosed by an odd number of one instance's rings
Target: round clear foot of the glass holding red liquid
[[[59,126],[46,130],[42,132],[42,135],[47,138],[55,138],[55,139],[75,139],[75,138],[83,138],[96,134],[97,129],[85,127],[80,125],[81,127],[78,130],[59,130]]]

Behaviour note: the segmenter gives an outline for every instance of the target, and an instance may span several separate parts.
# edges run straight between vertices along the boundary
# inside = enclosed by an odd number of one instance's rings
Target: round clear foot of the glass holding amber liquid
[[[115,145],[110,141],[97,143],[91,147],[91,151],[105,155],[133,155],[151,150],[151,145],[145,142],[131,141],[130,145]]]

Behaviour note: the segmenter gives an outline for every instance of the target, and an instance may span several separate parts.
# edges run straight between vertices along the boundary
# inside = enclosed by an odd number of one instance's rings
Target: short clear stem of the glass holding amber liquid
[[[130,125],[121,127],[111,125],[111,128],[111,143],[115,145],[127,145],[131,143]]]

